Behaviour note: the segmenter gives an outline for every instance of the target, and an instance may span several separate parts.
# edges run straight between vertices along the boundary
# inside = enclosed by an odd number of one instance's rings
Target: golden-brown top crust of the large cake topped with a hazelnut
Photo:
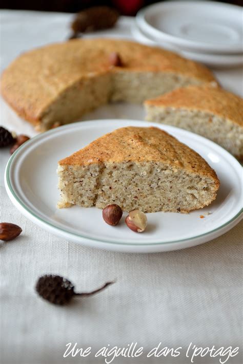
[[[75,82],[96,75],[119,72],[111,68],[109,54],[118,52],[131,72],[169,72],[197,79],[215,80],[204,66],[175,53],[114,39],[73,39],[26,52],[2,75],[2,94],[15,111],[37,123],[48,106]]]

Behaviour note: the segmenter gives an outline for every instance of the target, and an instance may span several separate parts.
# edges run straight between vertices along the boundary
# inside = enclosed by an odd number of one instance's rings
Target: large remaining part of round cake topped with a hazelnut
[[[111,63],[117,54],[118,64]],[[17,57],[3,72],[2,95],[39,130],[80,119],[110,101],[142,103],[188,84],[215,82],[192,60],[121,39],[73,39]]]

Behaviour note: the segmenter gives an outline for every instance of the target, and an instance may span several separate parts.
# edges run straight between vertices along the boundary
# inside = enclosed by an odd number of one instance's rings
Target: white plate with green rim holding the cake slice
[[[189,214],[148,213],[143,233],[128,229],[124,220],[112,227],[95,207],[56,208],[57,162],[92,140],[118,127],[157,126],[195,149],[220,179],[216,200]],[[126,252],[158,252],[206,243],[224,234],[242,217],[242,169],[225,149],[176,127],[145,121],[107,119],[82,121],[58,127],[30,139],[10,158],[5,185],[14,205],[40,227],[75,243]],[[210,212],[210,215],[208,213]],[[200,215],[205,218],[201,219]]]

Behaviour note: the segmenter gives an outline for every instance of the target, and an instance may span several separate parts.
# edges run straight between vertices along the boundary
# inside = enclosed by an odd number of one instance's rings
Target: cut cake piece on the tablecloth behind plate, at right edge
[[[181,127],[243,158],[243,100],[210,85],[188,86],[145,102],[147,120]]]

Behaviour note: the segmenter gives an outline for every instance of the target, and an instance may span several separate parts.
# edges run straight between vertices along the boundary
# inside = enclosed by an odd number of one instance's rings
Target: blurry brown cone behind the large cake
[[[119,14],[115,9],[108,6],[95,6],[77,13],[71,28],[74,33],[112,28],[118,17]]]

